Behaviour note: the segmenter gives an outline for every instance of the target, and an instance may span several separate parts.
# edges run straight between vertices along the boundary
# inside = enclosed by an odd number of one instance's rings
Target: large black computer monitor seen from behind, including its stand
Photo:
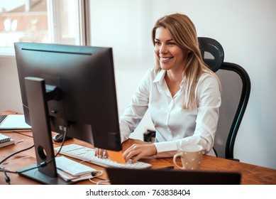
[[[57,178],[51,131],[64,134],[67,129],[67,136],[95,147],[121,150],[112,48],[14,45],[23,112],[32,127],[37,163],[47,162],[38,167],[41,177],[35,168],[23,175],[62,183]]]

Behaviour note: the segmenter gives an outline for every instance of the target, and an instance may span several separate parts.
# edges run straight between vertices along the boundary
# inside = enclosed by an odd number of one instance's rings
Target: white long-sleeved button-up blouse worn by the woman
[[[147,109],[156,129],[155,146],[159,157],[173,156],[185,144],[200,144],[204,153],[215,156],[214,136],[219,120],[219,82],[204,72],[195,89],[197,107],[183,109],[184,82],[172,97],[165,82],[165,70],[146,72],[131,103],[120,117],[121,141],[136,129]]]

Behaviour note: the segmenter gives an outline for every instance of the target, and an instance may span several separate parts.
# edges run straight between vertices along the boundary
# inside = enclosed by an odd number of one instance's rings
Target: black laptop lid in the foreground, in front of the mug
[[[241,174],[220,171],[106,168],[112,185],[238,185]]]

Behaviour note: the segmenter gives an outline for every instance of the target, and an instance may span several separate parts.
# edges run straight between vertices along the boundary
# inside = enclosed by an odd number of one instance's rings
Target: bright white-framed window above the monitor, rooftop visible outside
[[[14,42],[83,45],[84,0],[0,0],[0,53]]]

